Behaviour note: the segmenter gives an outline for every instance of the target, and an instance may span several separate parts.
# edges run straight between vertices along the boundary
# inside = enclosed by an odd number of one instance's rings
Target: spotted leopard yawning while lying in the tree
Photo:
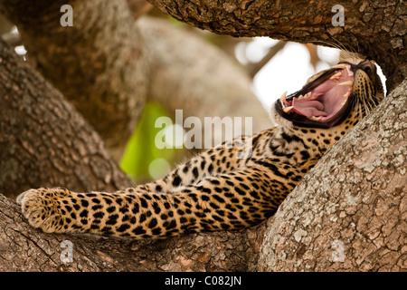
[[[274,102],[277,126],[197,153],[162,179],[115,192],[29,189],[16,202],[45,233],[152,239],[253,227],[383,97],[376,63],[347,58]]]

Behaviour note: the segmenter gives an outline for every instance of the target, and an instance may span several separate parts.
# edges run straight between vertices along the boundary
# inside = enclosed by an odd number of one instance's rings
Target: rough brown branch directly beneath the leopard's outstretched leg
[[[50,235],[30,227],[0,194],[0,272],[253,271],[264,228],[144,241]],[[72,243],[70,263],[60,258],[64,240]]]

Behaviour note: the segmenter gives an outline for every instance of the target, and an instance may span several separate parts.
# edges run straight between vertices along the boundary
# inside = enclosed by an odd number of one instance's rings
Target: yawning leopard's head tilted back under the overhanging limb
[[[329,129],[346,119],[354,124],[383,100],[383,86],[373,61],[349,58],[317,73],[298,92],[284,94],[271,108],[285,127]]]

